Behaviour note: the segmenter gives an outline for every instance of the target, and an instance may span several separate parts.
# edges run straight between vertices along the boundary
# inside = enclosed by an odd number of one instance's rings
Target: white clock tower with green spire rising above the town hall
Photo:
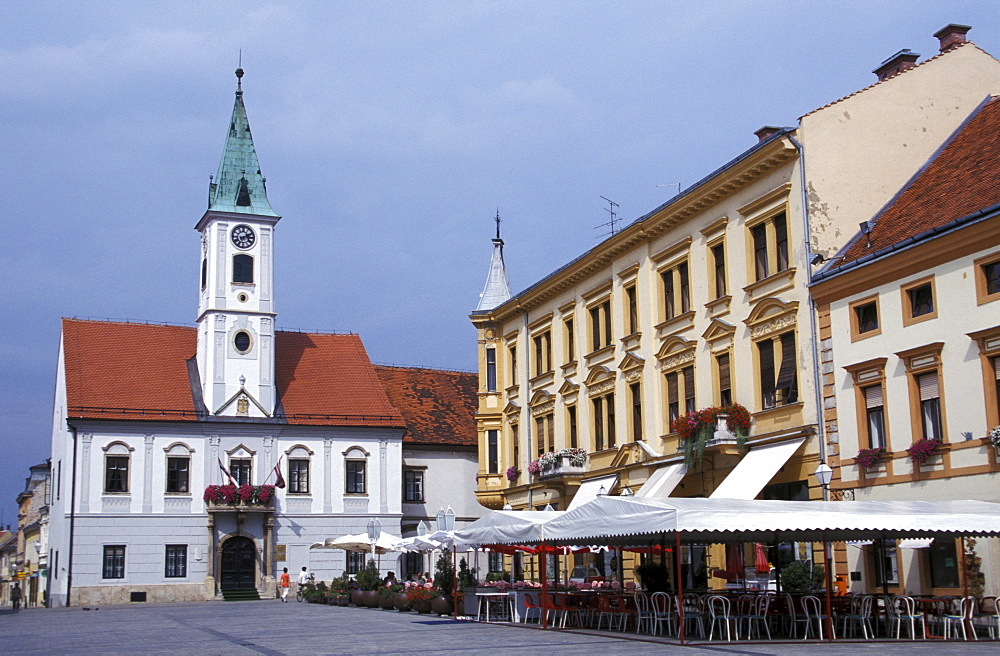
[[[275,413],[274,226],[243,106],[243,69],[219,170],[208,185],[201,233],[198,378],[210,415]]]

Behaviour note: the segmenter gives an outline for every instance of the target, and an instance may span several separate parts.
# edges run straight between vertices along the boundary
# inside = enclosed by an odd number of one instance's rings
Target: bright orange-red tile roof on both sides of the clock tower
[[[63,319],[63,347],[70,416],[198,417],[187,365],[195,328]],[[290,424],[404,425],[357,335],[278,331],[275,378]]]

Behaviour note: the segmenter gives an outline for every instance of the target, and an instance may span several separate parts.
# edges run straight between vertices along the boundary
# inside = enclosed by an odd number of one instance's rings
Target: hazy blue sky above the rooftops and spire
[[[193,325],[242,63],[279,329],[474,371],[502,219],[529,286],[990,1],[0,0],[0,524],[48,457],[60,317]]]

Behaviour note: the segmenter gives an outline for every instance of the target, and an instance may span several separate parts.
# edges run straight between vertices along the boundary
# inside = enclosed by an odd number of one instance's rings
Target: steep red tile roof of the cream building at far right
[[[1000,203],[1000,98],[982,106],[841,253],[837,267]]]

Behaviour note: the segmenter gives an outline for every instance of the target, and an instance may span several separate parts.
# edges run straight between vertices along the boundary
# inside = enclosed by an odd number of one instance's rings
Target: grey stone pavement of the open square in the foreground
[[[715,642],[681,647],[605,633],[275,601],[0,611],[0,653],[14,654],[1000,654],[1000,642]]]

